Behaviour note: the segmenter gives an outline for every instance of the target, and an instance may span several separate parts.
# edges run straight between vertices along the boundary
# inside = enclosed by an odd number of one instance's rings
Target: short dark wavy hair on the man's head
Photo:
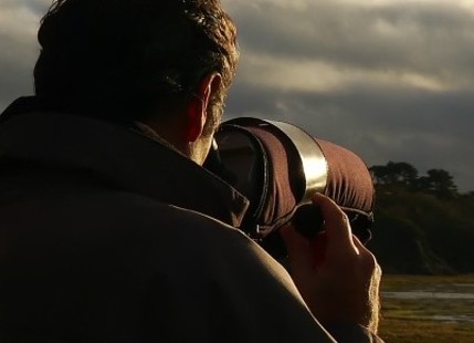
[[[222,107],[239,58],[219,0],[56,0],[38,39],[40,100],[126,123],[182,105],[212,72]]]

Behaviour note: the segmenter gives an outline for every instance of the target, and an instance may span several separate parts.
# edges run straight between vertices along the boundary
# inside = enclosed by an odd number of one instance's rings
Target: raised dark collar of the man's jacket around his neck
[[[73,168],[114,188],[197,210],[234,227],[242,221],[246,198],[143,128],[64,113],[7,111],[0,125],[0,162]]]

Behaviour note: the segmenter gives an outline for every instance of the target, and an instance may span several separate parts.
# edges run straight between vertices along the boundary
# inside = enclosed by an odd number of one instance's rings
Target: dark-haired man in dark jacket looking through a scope
[[[315,195],[292,277],[201,167],[234,76],[219,0],[57,0],[35,96],[0,117],[1,342],[371,342],[380,268]]]

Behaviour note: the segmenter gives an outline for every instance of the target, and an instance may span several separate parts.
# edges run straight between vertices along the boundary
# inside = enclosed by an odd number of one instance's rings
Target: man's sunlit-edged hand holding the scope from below
[[[313,204],[325,219],[323,235],[309,241],[291,225],[281,229],[292,278],[322,324],[361,324],[377,333],[381,269],[331,199],[316,194]]]

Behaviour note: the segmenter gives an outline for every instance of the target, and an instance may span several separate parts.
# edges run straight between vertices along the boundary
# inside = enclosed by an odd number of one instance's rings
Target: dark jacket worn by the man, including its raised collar
[[[284,268],[234,228],[246,206],[156,137],[12,116],[0,125],[0,341],[333,342]]]

